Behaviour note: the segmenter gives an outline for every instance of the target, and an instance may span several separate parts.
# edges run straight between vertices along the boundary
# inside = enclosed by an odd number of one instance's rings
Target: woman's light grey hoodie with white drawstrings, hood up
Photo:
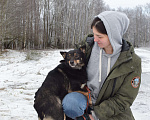
[[[97,15],[106,28],[110,43],[113,47],[112,54],[106,54],[97,42],[94,43],[91,56],[87,65],[88,82],[91,90],[92,102],[95,104],[99,91],[108,76],[110,69],[115,64],[122,48],[122,37],[128,29],[129,19],[121,12],[105,11]]]

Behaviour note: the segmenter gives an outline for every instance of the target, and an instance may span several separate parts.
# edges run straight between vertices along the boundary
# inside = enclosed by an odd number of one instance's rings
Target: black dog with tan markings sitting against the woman
[[[35,93],[34,108],[40,120],[64,120],[62,100],[70,91],[83,91],[87,82],[85,48],[60,52],[64,60],[50,71]]]

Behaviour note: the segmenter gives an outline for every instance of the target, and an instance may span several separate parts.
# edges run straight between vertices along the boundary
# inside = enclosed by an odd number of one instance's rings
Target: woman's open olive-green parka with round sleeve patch
[[[80,45],[86,45],[88,63],[94,38],[89,35]],[[137,82],[136,82],[137,81]],[[135,100],[141,83],[141,59],[133,46],[123,40],[122,51],[111,68],[93,106],[100,120],[134,120],[130,106]]]

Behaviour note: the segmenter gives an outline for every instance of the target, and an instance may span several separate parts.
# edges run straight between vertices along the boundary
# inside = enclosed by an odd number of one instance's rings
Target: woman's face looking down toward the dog
[[[111,43],[109,41],[108,35],[99,33],[95,27],[93,27],[94,42],[97,42],[100,48],[103,48],[107,53],[108,50],[112,50]]]

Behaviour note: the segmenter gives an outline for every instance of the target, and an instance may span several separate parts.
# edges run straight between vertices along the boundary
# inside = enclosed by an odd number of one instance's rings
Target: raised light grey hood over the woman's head
[[[113,47],[113,56],[121,51],[122,38],[129,26],[129,19],[126,14],[117,11],[105,11],[97,15],[106,28],[110,43]]]

